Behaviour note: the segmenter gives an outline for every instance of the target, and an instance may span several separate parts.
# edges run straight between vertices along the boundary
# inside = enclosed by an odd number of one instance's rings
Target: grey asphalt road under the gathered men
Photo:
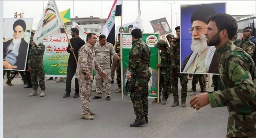
[[[46,78],[47,79],[47,78]],[[32,89],[24,89],[21,78],[15,78],[14,86],[3,80],[3,135],[4,138],[225,138],[227,108],[211,108],[199,111],[189,106],[193,96],[188,92],[187,107],[172,107],[172,95],[166,105],[153,104],[149,99],[149,123],[141,127],[130,127],[136,118],[129,96],[121,99],[114,93],[117,84],[111,86],[111,101],[92,100],[90,109],[96,112],[94,120],[84,120],[81,115],[81,99],[62,98],[65,83],[46,80],[46,96],[29,97]],[[188,89],[192,80],[189,80]],[[210,82],[211,84],[212,82]],[[93,83],[93,88],[95,82]],[[197,94],[200,93],[198,83]],[[179,92],[180,92],[179,86]],[[209,91],[213,88],[210,87]],[[103,93],[104,94],[104,93]],[[180,93],[179,93],[180,95]]]

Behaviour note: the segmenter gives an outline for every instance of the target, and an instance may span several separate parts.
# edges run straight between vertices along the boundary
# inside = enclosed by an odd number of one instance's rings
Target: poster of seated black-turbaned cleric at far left
[[[33,19],[5,18],[3,21],[3,69],[24,71]]]

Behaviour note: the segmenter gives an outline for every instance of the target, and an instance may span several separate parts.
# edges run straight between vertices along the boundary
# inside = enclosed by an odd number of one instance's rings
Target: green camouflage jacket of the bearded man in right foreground
[[[256,67],[246,52],[227,41],[218,55],[224,90],[209,92],[211,107],[227,106],[227,138],[256,136]]]

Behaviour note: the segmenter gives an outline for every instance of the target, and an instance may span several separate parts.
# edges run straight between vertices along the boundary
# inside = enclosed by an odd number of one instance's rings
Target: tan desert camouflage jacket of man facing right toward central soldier
[[[87,79],[85,75],[90,74],[90,80],[93,80],[94,68],[98,72],[102,72],[102,68],[96,61],[95,48],[90,43],[86,43],[79,49],[78,61],[76,67],[76,78]]]

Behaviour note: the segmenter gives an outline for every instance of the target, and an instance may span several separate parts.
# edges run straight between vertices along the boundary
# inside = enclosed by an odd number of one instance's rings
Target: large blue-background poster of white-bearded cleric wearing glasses
[[[180,72],[218,75],[215,46],[207,46],[207,17],[226,13],[226,3],[180,5]]]

